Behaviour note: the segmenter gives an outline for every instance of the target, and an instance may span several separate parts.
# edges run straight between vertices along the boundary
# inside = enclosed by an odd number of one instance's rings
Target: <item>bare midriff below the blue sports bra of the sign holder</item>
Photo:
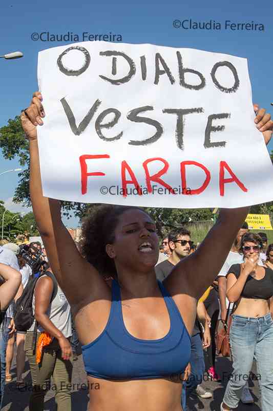
[[[102,360],[103,361],[103,360]],[[88,411],[181,411],[181,376],[113,381],[87,377]]]

